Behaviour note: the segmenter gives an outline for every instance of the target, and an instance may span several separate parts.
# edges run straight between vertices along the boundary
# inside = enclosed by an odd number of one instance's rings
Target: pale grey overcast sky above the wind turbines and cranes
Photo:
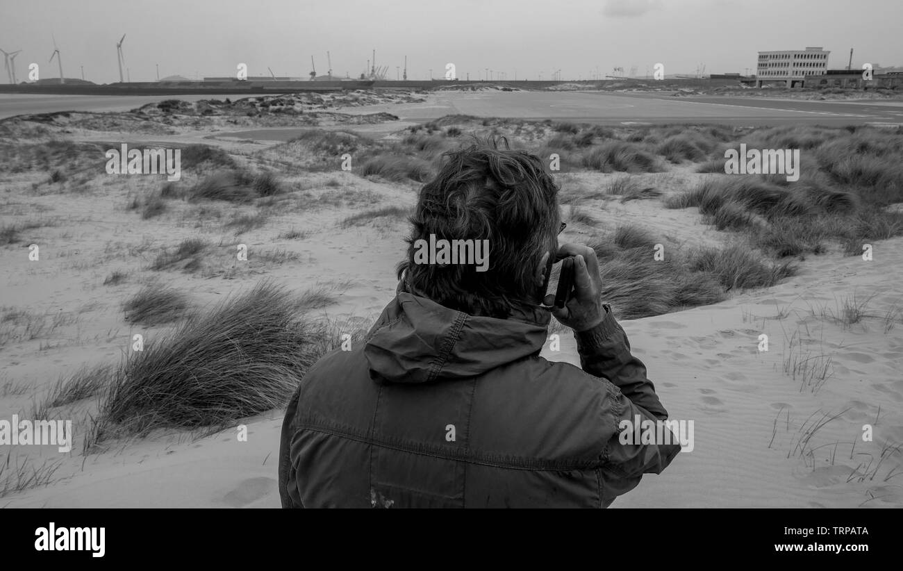
[[[409,79],[442,77],[453,62],[461,79],[489,68],[508,79],[588,79],[619,66],[651,73],[754,71],[758,51],[831,50],[829,67],[903,65],[901,0],[0,0],[0,48],[22,50],[58,77],[51,33],[66,77],[118,80],[116,42],[131,79],[180,74],[229,76],[239,62],[252,76],[358,76],[377,65],[404,66]],[[0,54],[2,55],[2,54]],[[124,70],[125,73],[125,70]],[[485,73],[485,71],[483,71]],[[0,81],[5,82],[5,73]]]

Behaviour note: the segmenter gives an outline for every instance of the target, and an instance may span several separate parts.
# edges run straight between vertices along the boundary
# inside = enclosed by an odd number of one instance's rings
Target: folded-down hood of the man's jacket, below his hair
[[[364,356],[377,382],[467,379],[538,353],[551,318],[541,308],[516,310],[508,319],[465,314],[399,285],[370,331]]]

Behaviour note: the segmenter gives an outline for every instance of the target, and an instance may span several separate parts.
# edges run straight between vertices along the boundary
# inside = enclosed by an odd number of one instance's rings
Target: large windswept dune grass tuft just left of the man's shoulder
[[[86,438],[91,449],[154,428],[227,426],[283,407],[332,347],[297,298],[265,281],[129,354]]]

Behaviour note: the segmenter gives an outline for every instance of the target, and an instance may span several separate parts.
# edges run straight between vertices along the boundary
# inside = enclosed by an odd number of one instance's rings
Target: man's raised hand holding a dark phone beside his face
[[[599,260],[596,252],[582,244],[563,244],[558,248],[556,260],[574,257],[574,291],[571,299],[563,308],[555,308],[552,314],[563,325],[576,332],[587,331],[602,322],[605,308],[602,307],[600,291],[602,279],[599,276]],[[546,295],[546,305],[555,303],[554,295]]]

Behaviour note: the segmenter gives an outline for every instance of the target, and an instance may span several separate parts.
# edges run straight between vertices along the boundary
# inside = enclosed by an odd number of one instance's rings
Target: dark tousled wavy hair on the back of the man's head
[[[498,143],[504,148],[498,148]],[[408,244],[398,265],[406,286],[467,314],[507,318],[518,304],[536,304],[535,274],[557,248],[558,186],[535,154],[512,151],[507,139],[445,153],[436,177],[421,189]],[[489,267],[414,261],[418,240],[489,240]],[[477,243],[476,241],[474,243]],[[541,294],[540,294],[541,295]]]

